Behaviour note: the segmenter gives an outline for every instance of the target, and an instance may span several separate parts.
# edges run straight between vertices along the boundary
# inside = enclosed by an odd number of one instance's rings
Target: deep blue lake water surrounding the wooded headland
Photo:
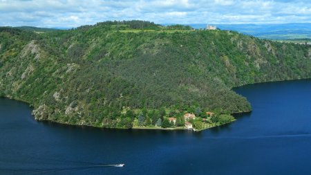
[[[37,122],[0,98],[0,174],[310,174],[311,80],[234,90],[252,113],[202,132]],[[79,168],[92,163],[126,165]]]

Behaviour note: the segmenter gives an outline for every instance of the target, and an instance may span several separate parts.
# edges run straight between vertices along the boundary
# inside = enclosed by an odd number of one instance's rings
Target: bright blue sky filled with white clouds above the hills
[[[106,20],[157,24],[311,23],[311,0],[0,0],[0,26],[71,28]]]

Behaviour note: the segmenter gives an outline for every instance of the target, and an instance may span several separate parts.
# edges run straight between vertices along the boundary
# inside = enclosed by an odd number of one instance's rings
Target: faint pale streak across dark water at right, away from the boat
[[[285,134],[285,135],[270,135],[270,136],[230,136],[230,137],[207,137],[209,139],[261,139],[261,138],[302,138],[302,137],[311,137],[311,133],[302,133],[302,134]]]

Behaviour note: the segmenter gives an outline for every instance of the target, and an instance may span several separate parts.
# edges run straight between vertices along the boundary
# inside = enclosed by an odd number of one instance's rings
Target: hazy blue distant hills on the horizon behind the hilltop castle
[[[170,24],[171,25],[171,24]],[[187,24],[193,28],[206,28],[207,24]],[[263,39],[311,39],[311,23],[297,24],[212,24],[221,30],[234,30]]]

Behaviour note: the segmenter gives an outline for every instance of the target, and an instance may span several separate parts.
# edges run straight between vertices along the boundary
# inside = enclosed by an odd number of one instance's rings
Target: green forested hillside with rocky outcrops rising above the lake
[[[35,33],[0,28],[0,96],[28,102],[38,120],[171,127],[185,113],[251,111],[232,87],[311,77],[311,46],[227,30],[106,21]]]

